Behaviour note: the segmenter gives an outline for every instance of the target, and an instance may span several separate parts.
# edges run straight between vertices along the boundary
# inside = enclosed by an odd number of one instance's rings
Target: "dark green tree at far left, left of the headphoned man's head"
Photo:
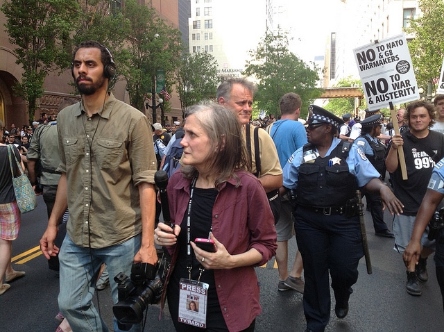
[[[44,79],[50,72],[69,67],[69,33],[78,17],[75,0],[9,0],[1,11],[6,16],[6,32],[14,44],[17,65],[23,75],[12,87],[28,104],[30,123],[37,98],[44,92]]]

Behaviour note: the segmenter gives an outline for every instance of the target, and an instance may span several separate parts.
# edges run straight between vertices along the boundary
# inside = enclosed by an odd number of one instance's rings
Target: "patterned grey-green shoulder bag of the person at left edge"
[[[35,192],[31,182],[29,182],[28,176],[21,171],[21,165],[17,160],[14,147],[11,144],[8,144],[8,157],[9,157],[9,165],[11,167],[12,174],[12,185],[14,185],[14,193],[15,200],[17,201],[17,206],[19,206],[19,210],[21,213],[27,213],[29,211],[34,210],[37,207],[37,197],[35,196]],[[19,176],[14,176],[14,164],[12,163],[12,158],[15,159],[15,164],[20,173]]]

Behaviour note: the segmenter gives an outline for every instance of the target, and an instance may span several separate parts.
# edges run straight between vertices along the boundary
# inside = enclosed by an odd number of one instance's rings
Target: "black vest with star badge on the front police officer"
[[[314,149],[305,144],[303,154]],[[311,163],[302,163],[299,167],[297,204],[303,206],[345,206],[348,199],[355,197],[358,184],[356,177],[350,174],[346,159],[350,142],[342,141],[325,158],[318,157]],[[335,165],[329,165],[334,158],[341,159]],[[332,164],[332,163],[330,163]]]

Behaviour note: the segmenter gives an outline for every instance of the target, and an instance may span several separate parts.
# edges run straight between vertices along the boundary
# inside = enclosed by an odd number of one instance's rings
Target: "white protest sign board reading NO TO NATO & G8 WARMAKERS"
[[[353,52],[369,110],[420,98],[403,33]]]

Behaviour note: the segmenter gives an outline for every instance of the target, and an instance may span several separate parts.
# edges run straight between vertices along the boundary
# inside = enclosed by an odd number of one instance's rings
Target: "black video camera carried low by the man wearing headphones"
[[[162,296],[171,258],[162,249],[157,250],[156,265],[135,263],[128,278],[120,272],[114,276],[119,302],[112,307],[119,329],[128,331],[131,325],[142,322],[148,304],[157,304]]]

